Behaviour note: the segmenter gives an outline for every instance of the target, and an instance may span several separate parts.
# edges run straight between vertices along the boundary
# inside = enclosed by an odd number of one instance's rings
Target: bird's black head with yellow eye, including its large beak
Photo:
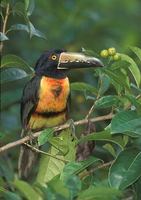
[[[53,49],[40,56],[35,65],[35,73],[41,76],[64,78],[69,69],[101,66],[103,66],[102,62],[95,57],[66,52],[63,49]]]

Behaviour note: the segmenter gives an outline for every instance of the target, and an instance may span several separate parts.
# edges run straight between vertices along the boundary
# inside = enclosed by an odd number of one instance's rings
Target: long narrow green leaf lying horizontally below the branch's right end
[[[108,141],[119,145],[121,149],[123,149],[124,147],[122,136],[113,137],[110,129],[101,132],[91,133],[87,136],[84,136],[80,138],[79,143],[86,141]]]

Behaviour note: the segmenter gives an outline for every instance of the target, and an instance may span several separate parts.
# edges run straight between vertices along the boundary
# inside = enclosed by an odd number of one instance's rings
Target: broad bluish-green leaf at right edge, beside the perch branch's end
[[[136,111],[122,111],[116,114],[111,121],[111,133],[131,132],[141,135],[141,115]]]

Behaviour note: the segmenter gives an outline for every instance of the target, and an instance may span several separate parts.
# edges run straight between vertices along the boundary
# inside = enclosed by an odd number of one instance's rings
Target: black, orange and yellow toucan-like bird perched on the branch
[[[51,49],[42,53],[35,64],[34,75],[26,83],[21,98],[21,137],[65,123],[70,105],[68,71],[78,68],[102,67],[95,57],[83,53]],[[26,145],[21,146],[19,177],[27,179],[37,153]]]

